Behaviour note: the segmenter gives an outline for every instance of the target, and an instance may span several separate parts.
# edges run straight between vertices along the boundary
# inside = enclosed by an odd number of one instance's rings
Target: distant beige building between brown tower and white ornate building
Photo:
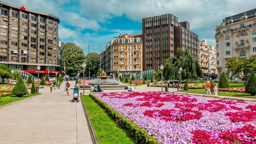
[[[217,74],[216,49],[207,44],[206,40],[199,41],[199,64],[205,74]]]

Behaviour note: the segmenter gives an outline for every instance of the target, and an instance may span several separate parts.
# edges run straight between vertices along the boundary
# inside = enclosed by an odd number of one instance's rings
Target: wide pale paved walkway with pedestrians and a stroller
[[[70,102],[72,96],[67,96],[64,83],[52,93],[49,89],[0,109],[0,144],[92,143],[81,101]]]

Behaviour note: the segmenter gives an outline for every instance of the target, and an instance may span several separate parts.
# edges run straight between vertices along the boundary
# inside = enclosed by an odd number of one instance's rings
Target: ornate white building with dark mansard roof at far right
[[[216,26],[216,55],[218,76],[225,68],[227,60],[233,56],[256,56],[256,8],[223,19]],[[230,74],[229,74],[230,76]]]

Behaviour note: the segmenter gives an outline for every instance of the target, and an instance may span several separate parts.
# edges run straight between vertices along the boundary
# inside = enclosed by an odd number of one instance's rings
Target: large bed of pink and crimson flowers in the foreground
[[[165,92],[95,96],[160,143],[256,143],[256,102]]]

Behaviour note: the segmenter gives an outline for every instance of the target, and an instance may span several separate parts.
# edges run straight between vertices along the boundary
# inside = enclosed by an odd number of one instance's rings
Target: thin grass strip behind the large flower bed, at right
[[[205,89],[189,89],[189,90],[179,90],[180,92],[193,92],[193,93],[202,93],[207,95],[207,91]],[[218,91],[218,95],[226,95],[226,96],[251,96],[248,93],[240,93],[240,92],[227,92],[227,91]],[[214,92],[212,92],[212,96],[214,96]]]

